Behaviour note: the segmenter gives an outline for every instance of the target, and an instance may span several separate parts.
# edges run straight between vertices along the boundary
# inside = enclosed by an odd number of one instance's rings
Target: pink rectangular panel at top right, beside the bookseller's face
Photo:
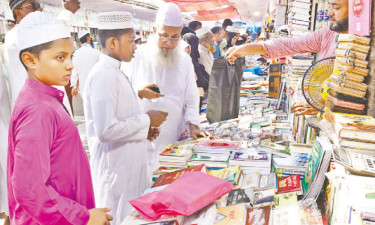
[[[371,0],[349,0],[349,33],[369,36]]]

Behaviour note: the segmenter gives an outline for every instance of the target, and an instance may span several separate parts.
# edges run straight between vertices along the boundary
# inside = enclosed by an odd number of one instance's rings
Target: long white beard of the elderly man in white
[[[157,66],[160,66],[164,69],[170,69],[174,66],[177,66],[182,50],[180,47],[180,43],[178,43],[178,45],[174,49],[165,50],[159,47],[158,38],[156,36],[150,37],[149,41],[153,59],[155,60]]]

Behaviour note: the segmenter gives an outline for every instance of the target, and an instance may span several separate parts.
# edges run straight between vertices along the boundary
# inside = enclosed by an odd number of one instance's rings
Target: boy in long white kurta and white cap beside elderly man
[[[129,200],[149,186],[147,139],[153,139],[153,127],[167,113],[142,113],[120,70],[121,61],[129,62],[136,49],[131,14],[102,13],[98,25],[103,50],[86,81],[84,105],[96,205],[111,208],[116,225],[130,211]]]

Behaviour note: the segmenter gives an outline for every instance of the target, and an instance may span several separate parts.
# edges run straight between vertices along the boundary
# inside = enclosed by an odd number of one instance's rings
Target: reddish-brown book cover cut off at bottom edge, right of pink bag
[[[271,206],[251,208],[246,213],[246,225],[270,224]]]

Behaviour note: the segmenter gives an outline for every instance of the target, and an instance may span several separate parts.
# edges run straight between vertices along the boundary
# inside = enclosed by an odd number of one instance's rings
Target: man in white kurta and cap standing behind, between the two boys
[[[78,37],[80,40],[87,39],[85,42],[81,42],[81,47],[74,53],[74,69],[70,83],[74,90],[78,87],[81,96],[83,96],[87,76],[95,63],[98,62],[100,51],[90,45],[91,37],[88,31],[79,32]]]

